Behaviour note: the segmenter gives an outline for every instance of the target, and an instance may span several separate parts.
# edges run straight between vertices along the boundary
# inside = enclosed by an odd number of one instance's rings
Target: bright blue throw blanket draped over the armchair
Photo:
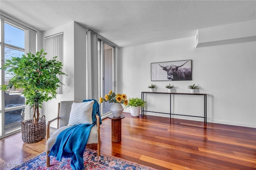
[[[94,99],[84,100],[83,102],[92,100]],[[58,161],[61,161],[62,157],[71,158],[71,168],[73,170],[83,170],[83,154],[89,138],[90,130],[96,124],[96,114],[100,117],[100,105],[96,100],[94,100],[92,109],[92,125],[74,125],[60,132],[48,156],[54,156]],[[100,118],[100,124],[101,123],[102,121]]]

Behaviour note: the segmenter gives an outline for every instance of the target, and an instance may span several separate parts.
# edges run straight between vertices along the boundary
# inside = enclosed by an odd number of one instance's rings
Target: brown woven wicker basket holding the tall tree
[[[43,115],[38,122],[33,119],[21,122],[22,140],[25,143],[35,143],[42,140],[46,135],[46,121]]]

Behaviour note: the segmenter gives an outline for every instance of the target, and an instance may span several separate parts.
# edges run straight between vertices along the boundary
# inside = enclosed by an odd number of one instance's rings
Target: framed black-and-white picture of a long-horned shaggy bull
[[[192,60],[151,63],[151,81],[192,80]]]

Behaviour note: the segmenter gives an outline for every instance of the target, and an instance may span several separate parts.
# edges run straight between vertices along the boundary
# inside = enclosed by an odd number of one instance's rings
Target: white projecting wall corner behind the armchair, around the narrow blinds
[[[46,122],[57,116],[58,102],[86,99],[86,28],[70,22],[44,31],[42,46],[44,37],[60,32],[64,37],[63,72],[67,76],[62,76],[63,94],[57,94],[56,99],[43,104],[42,114],[46,116]],[[56,122],[52,125],[56,126]]]

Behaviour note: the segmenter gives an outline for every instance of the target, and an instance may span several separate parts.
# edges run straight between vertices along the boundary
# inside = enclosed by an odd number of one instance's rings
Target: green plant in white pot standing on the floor
[[[140,108],[145,106],[146,101],[136,97],[129,98],[128,105],[126,107],[131,107],[131,115],[133,117],[138,117],[140,115]]]

